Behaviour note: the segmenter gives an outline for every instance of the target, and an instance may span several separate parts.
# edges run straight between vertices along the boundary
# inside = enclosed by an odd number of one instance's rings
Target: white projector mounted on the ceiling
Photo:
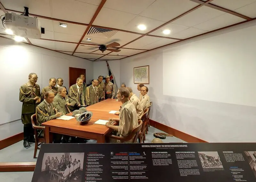
[[[44,33],[40,21],[36,17],[5,13],[5,26],[11,29],[14,35],[20,37],[40,39]]]

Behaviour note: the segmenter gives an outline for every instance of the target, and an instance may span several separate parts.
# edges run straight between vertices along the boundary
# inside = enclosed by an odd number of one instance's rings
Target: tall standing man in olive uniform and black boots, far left
[[[20,102],[22,102],[21,121],[24,133],[23,146],[25,148],[30,146],[28,142],[35,142],[31,116],[36,113],[36,106],[41,102],[41,91],[40,86],[36,84],[36,73],[30,73],[28,80],[28,83],[21,85],[19,97]]]

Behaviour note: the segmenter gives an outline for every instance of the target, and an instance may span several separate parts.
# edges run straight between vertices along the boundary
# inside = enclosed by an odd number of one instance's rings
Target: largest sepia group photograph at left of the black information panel
[[[38,182],[82,182],[84,153],[44,153]]]

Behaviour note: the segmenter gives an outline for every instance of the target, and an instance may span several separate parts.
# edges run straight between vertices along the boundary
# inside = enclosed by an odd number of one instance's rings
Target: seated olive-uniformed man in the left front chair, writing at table
[[[41,126],[42,123],[60,117],[62,113],[58,112],[55,105],[52,103],[54,93],[52,91],[45,92],[44,100],[36,107],[37,125]],[[40,132],[39,136],[43,136]]]

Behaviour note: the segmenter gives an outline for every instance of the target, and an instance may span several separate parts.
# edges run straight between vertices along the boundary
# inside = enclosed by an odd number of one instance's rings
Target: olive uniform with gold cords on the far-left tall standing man
[[[21,121],[24,124],[24,141],[28,141],[30,137],[34,138],[34,130],[31,124],[31,116],[36,113],[36,106],[40,103],[36,104],[36,100],[34,98],[40,95],[40,86],[35,84],[35,86],[31,85],[30,82],[21,85],[20,87],[20,102],[22,102],[21,108]]]

